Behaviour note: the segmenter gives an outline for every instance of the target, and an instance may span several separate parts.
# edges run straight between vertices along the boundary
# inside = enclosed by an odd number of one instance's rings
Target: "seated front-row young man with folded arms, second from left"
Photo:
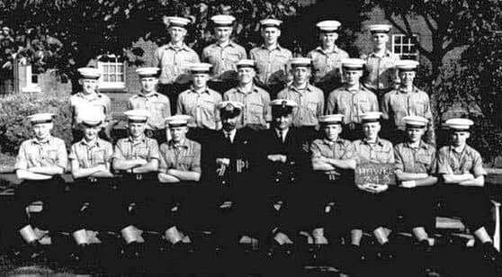
[[[84,138],[72,145],[68,159],[74,182],[71,183],[71,231],[79,246],[73,258],[86,255],[88,245],[93,243],[90,230],[112,231],[110,224],[120,214],[110,212],[118,202],[111,201],[112,177],[110,172],[113,147],[98,137],[104,120],[103,113],[83,112],[80,128]],[[95,240],[94,240],[95,241]]]

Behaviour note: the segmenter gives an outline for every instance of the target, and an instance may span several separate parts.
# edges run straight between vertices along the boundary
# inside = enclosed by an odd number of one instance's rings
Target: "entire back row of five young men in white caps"
[[[209,86],[215,91],[223,94],[237,85],[237,64],[239,60],[247,58],[247,52],[231,40],[236,18],[220,14],[212,16],[211,22],[216,41],[202,49],[200,59],[197,53],[184,43],[190,20],[175,16],[165,18],[170,41],[156,50],[152,66],[161,70],[159,92],[170,95],[172,103],[175,103],[176,95],[189,86],[190,64],[200,61],[211,64]],[[256,84],[268,91],[273,98],[291,81],[288,67],[293,56],[291,50],[283,48],[278,42],[281,37],[281,25],[282,21],[277,19],[260,21],[264,43],[249,51],[249,58],[255,60]],[[312,61],[313,85],[326,94],[342,85],[342,60],[349,58],[345,50],[336,46],[340,26],[341,23],[335,20],[318,22],[321,44],[307,55]],[[390,29],[388,24],[369,25],[373,49],[372,53],[362,57],[368,72],[364,85],[379,98],[389,92],[397,81],[395,66],[399,55],[387,49]]]

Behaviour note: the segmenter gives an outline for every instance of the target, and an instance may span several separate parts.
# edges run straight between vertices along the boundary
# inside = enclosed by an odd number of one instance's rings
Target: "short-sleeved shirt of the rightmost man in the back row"
[[[374,52],[363,55],[366,61],[366,71],[368,76],[364,84],[371,89],[390,88],[397,81],[396,63],[399,55],[393,54],[390,50],[385,51],[383,57],[378,57]]]

